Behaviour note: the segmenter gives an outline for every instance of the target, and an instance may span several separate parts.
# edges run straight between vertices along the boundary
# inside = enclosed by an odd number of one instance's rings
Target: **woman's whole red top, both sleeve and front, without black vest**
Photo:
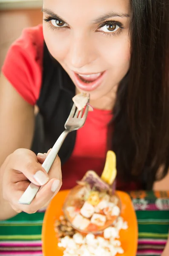
[[[43,41],[42,25],[24,29],[21,37],[11,45],[2,67],[4,76],[31,105],[36,104],[40,95]],[[111,111],[95,109],[89,112],[85,125],[77,131],[72,156],[62,167],[62,189],[74,186],[89,169],[101,174],[107,151],[107,127],[111,119]]]

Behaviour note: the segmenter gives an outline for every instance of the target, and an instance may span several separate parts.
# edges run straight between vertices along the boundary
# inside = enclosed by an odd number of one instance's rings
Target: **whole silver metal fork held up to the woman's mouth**
[[[82,109],[81,111],[78,111],[76,106],[73,105],[69,117],[65,123],[65,131],[63,131],[63,133],[57,139],[49,155],[46,157],[44,163],[42,164],[42,167],[46,170],[47,173],[49,172],[52,163],[54,162],[54,159],[56,158],[57,153],[59,152],[60,147],[63,144],[63,141],[65,140],[66,136],[69,134],[69,132],[78,130],[84,125],[88,111],[88,105],[86,105],[86,108]],[[19,204],[31,204],[39,189],[40,186],[37,186],[34,183],[30,183],[26,191],[20,197]]]

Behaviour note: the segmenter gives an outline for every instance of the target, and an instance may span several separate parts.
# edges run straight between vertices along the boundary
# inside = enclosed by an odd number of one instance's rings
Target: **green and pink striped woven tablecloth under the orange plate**
[[[130,192],[138,220],[137,256],[160,256],[169,231],[169,192]],[[42,256],[44,212],[0,221],[0,255]],[[131,241],[132,242],[132,241]]]

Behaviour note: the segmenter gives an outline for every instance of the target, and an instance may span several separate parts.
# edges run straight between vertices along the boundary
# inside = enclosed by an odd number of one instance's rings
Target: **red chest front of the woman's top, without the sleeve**
[[[85,125],[77,131],[72,156],[63,166],[63,188],[74,186],[88,170],[101,175],[107,152],[107,125],[111,119],[111,111],[95,109],[88,113]]]

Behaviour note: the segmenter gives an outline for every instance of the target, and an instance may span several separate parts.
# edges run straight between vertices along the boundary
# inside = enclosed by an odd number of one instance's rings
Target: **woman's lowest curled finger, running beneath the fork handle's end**
[[[38,209],[43,208],[52,199],[52,197],[60,190],[61,185],[62,183],[60,182],[60,180],[50,180],[46,185],[41,187],[30,205],[18,204],[17,202],[19,198],[23,195],[23,192],[15,191],[11,204],[15,211],[34,213]]]

